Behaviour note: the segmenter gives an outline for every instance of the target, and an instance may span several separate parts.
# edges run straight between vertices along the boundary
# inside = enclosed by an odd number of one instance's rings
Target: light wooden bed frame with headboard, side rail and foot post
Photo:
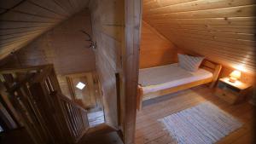
[[[222,66],[218,65],[210,60],[203,60],[200,67],[209,72],[212,72],[212,75],[213,75],[212,78],[198,80],[198,81],[195,81],[195,82],[192,82],[189,84],[178,85],[178,86],[172,87],[170,89],[161,89],[161,90],[151,92],[148,94],[143,94],[142,86],[138,85],[138,87],[137,87],[137,110],[142,109],[143,101],[153,99],[153,98],[159,97],[161,95],[171,94],[171,93],[177,92],[179,90],[189,89],[189,88],[201,85],[201,84],[209,84],[209,87],[212,88],[215,85],[216,81],[218,80],[218,74],[219,74]]]

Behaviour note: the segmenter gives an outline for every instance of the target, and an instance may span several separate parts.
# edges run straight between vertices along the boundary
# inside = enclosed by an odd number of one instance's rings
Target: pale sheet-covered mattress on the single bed
[[[212,78],[212,72],[204,69],[199,69],[197,72],[189,72],[179,67],[177,63],[139,70],[139,84],[143,87],[143,94],[207,78]]]

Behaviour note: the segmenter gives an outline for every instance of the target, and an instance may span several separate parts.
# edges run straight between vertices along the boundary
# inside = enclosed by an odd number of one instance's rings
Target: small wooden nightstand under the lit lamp
[[[231,83],[229,78],[220,78],[218,80],[215,95],[230,104],[236,104],[239,101],[245,100],[251,85],[236,81]]]

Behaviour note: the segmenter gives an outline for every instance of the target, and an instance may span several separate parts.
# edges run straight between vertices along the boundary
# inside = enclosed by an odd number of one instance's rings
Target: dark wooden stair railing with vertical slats
[[[3,101],[36,144],[76,143],[89,128],[83,107],[61,94],[52,65],[0,71]]]

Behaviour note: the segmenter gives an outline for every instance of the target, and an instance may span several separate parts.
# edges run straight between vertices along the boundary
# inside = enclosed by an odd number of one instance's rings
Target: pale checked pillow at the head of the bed
[[[181,54],[177,54],[177,58],[178,58],[178,66],[190,72],[196,72],[199,66],[201,65],[202,60],[204,60],[204,57],[181,55]]]

